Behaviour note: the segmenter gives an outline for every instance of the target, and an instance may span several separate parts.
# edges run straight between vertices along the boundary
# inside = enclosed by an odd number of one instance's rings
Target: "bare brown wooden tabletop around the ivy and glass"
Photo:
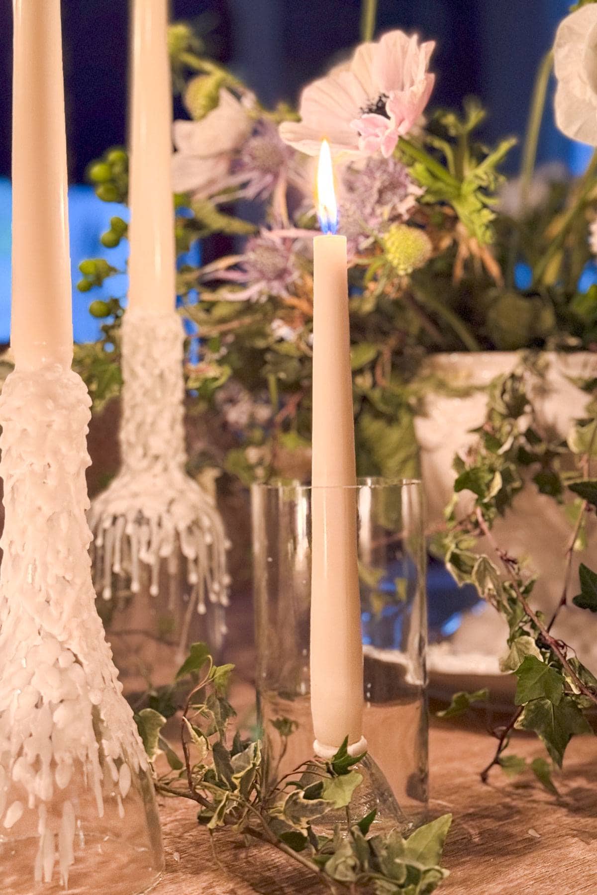
[[[231,644],[241,679],[232,701],[241,711],[252,702],[252,646]],[[228,657],[226,657],[228,658]],[[430,737],[433,816],[454,814],[443,865],[450,876],[441,895],[597,895],[597,740],[576,737],[565,771],[554,778],[560,798],[526,775],[508,781],[494,769],[479,780],[493,743],[471,721],[434,720]],[[516,754],[544,754],[533,737],[516,737]],[[315,895],[328,892],[292,859],[268,846],[244,848],[229,831],[217,831],[216,856],[209,835],[195,822],[192,803],[160,800],[166,874],[155,895]]]

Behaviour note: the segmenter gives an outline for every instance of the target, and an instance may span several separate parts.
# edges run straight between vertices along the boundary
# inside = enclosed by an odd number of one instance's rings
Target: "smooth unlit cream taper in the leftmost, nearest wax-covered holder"
[[[13,0],[13,303],[19,369],[72,362],[60,0]]]

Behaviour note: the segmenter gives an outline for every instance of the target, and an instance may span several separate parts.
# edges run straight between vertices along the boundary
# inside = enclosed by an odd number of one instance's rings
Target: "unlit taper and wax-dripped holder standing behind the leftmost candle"
[[[221,516],[185,472],[171,122],[167,2],[135,0],[122,465],[90,509],[98,605],[129,691],[149,672],[171,679],[192,640],[217,654],[230,585]]]

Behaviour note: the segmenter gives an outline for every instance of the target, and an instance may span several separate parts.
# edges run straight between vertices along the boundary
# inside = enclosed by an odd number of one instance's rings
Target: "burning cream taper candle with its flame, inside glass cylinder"
[[[313,241],[311,471],[311,715],[314,749],[330,758],[345,737],[362,739],[361,604],[345,236],[328,143],[318,169],[321,229]]]

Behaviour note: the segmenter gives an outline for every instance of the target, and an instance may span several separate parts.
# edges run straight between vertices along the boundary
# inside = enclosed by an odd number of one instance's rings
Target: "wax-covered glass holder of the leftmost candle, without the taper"
[[[146,755],[90,575],[90,399],[59,365],[0,397],[0,891],[132,895],[163,853]]]

